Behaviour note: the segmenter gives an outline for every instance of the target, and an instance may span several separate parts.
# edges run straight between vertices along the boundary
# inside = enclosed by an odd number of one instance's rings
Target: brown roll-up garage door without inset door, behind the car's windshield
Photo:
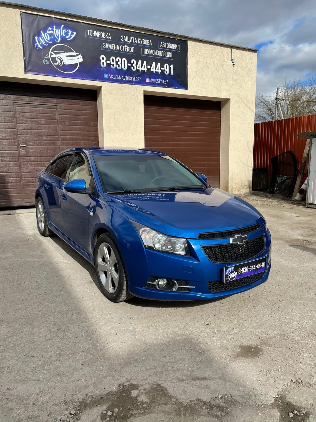
[[[145,148],[166,152],[220,186],[218,101],[144,96]]]

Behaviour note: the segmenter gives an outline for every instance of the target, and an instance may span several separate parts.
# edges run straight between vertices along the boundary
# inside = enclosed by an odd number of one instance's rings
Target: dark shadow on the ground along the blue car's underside
[[[96,278],[94,267],[88,262],[84,257],[82,257],[75,249],[72,249],[68,243],[63,241],[59,236],[51,236],[51,240],[56,243],[57,246],[62,248],[72,259],[74,259],[78,264],[80,264],[86,271],[88,271],[91,280],[94,282],[96,287],[99,289],[101,295],[103,295],[102,290],[99,287],[98,280]],[[228,298],[226,296],[225,298]],[[145,308],[193,308],[195,306],[204,306],[217,302],[219,300],[225,300],[225,298],[216,298],[212,300],[150,300],[133,297],[132,299],[126,301],[128,305],[141,306]],[[107,300],[104,298],[104,300]]]

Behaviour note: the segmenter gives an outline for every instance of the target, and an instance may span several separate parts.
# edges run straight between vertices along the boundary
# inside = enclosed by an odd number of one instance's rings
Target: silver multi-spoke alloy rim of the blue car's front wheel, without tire
[[[101,243],[97,254],[97,269],[104,289],[114,293],[118,288],[118,263],[108,243]]]

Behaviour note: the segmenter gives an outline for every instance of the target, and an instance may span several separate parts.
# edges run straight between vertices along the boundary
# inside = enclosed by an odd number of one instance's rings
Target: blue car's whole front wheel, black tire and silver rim
[[[103,234],[96,241],[94,268],[100,289],[111,302],[123,302],[133,297],[128,289],[121,254],[110,234]]]

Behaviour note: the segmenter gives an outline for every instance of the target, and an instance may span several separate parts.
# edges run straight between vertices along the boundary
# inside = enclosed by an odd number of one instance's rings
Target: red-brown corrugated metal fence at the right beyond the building
[[[297,133],[313,130],[316,130],[316,114],[256,123],[254,125],[253,168],[268,167],[270,173],[270,159],[289,150],[294,152],[300,164],[306,140],[298,137]]]

